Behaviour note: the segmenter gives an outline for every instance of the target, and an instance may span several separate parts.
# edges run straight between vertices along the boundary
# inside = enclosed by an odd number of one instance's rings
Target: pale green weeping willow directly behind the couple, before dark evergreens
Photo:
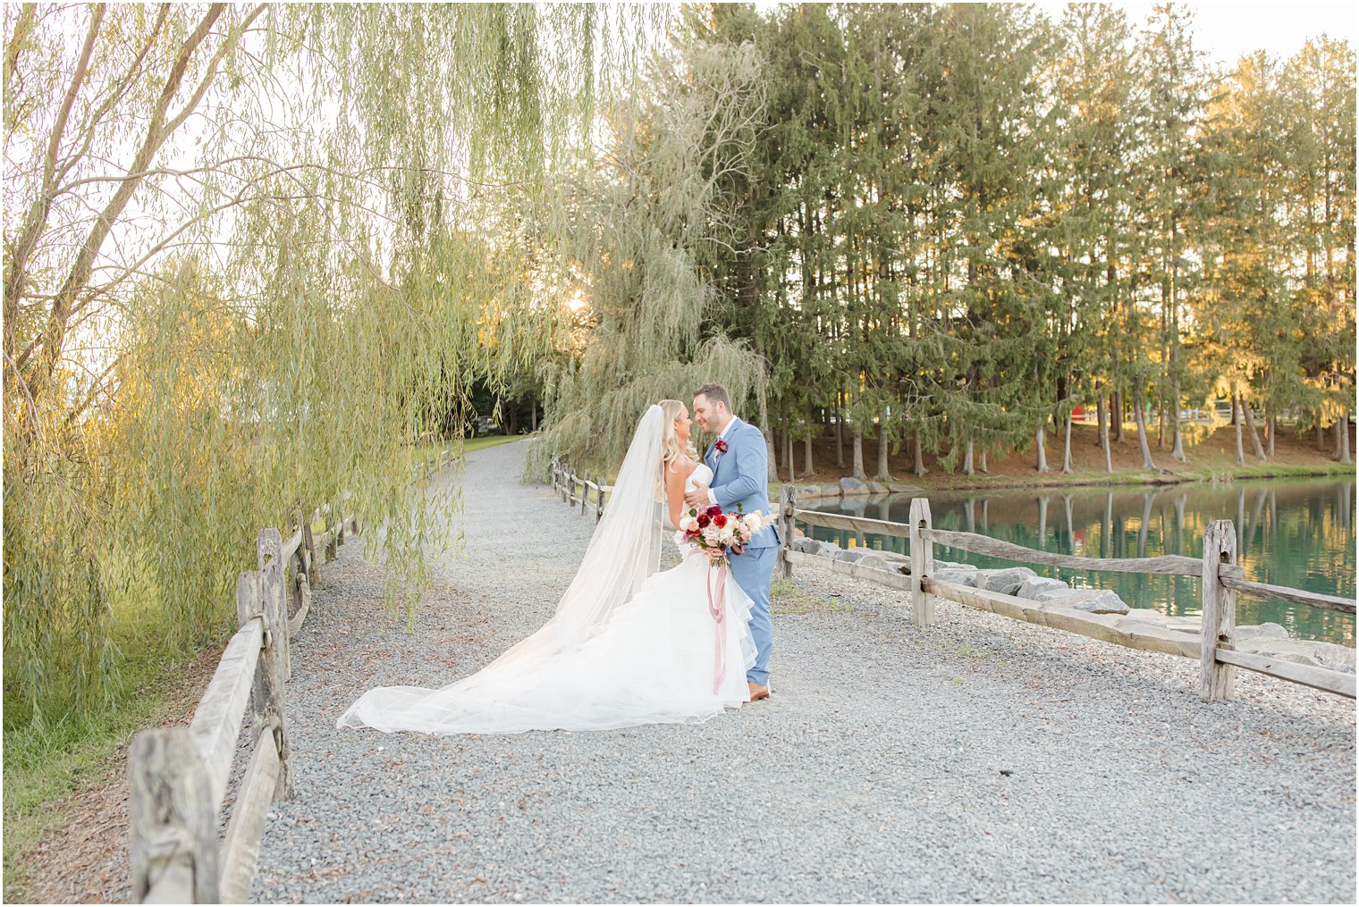
[[[637,417],[700,384],[727,386],[733,407],[762,407],[762,363],[747,346],[705,333],[713,247],[730,248],[762,117],[760,57],[692,41],[655,57],[643,91],[607,111],[607,149],[564,183],[559,217],[576,242],[563,281],[579,286],[591,327],[579,356],[549,376],[549,420],[537,456],[563,454],[616,467]],[[758,418],[758,414],[757,414]],[[761,420],[762,421],[762,420]]]

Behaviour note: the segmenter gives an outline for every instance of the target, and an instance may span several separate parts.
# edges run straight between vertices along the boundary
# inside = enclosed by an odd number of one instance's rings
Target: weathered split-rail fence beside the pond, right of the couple
[[[1200,663],[1200,695],[1205,702],[1231,698],[1235,668],[1245,668],[1351,699],[1355,698],[1355,675],[1352,673],[1237,650],[1238,593],[1280,599],[1345,614],[1355,612],[1355,601],[1333,595],[1246,580],[1243,570],[1237,563],[1237,530],[1229,520],[1218,520],[1208,525],[1204,534],[1204,554],[1201,559],[1182,555],[1082,558],[1051,551],[1036,551],[974,532],[935,530],[931,525],[928,498],[913,498],[911,501],[909,523],[892,523],[840,513],[800,511],[796,508],[796,498],[792,489],[786,486],[783,498],[780,500],[780,513],[790,525],[790,531],[781,534],[781,561],[786,576],[791,574],[792,569],[798,565],[818,565],[829,568],[834,573],[871,580],[904,591],[909,593],[911,619],[916,625],[923,626],[935,622],[934,599],[942,597],[991,614],[1056,627],[1131,649],[1197,659]],[[791,549],[794,536],[791,527],[796,523],[909,539],[909,570],[902,568],[900,572],[887,572],[794,551]],[[1108,573],[1201,577],[1203,625],[1200,635],[1197,640],[1193,640],[1173,630],[1162,630],[1151,626],[1121,626],[1123,622],[1112,615],[1090,614],[1076,608],[1064,608],[1060,604],[1038,603],[1030,599],[1021,599],[988,589],[974,589],[939,580],[934,576],[935,544],[1017,561],[1019,563],[1038,563]]]

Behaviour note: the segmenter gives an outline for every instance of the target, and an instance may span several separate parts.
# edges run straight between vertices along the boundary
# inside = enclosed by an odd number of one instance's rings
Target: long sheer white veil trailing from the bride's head
[[[485,668],[442,688],[376,687],[336,722],[341,728],[424,733],[495,732],[534,726],[533,706],[518,702],[549,660],[595,635],[660,563],[665,415],[651,406],[637,422],[580,568],[553,616]],[[544,703],[546,706],[548,703]]]

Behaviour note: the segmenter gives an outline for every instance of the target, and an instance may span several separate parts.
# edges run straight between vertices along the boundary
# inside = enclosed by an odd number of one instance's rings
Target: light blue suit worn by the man
[[[713,441],[703,462],[712,470],[712,494],[718,506],[746,513],[760,511],[765,516],[769,506],[769,454],[764,433],[754,425],[733,418],[726,439],[727,451],[718,454]],[[745,553],[731,558],[731,576],[750,596],[750,635],[756,641],[756,664],[746,672],[746,680],[769,683],[769,653],[773,650],[773,621],[769,618],[769,582],[779,559],[779,534],[766,527],[746,546]]]

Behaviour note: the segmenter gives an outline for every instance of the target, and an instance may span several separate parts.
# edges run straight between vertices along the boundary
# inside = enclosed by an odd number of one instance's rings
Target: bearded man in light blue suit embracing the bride
[[[712,487],[685,496],[689,506],[716,504],[724,512],[737,505],[746,513],[769,506],[769,455],[764,433],[731,414],[731,396],[722,384],[704,384],[693,392],[693,417],[708,434],[716,434],[703,462],[712,470]],[[750,539],[745,551],[731,558],[731,576],[750,596],[750,635],[756,641],[756,664],[746,672],[750,701],[769,697],[769,652],[773,649],[773,622],[769,619],[769,582],[779,558],[779,535],[771,525]]]

